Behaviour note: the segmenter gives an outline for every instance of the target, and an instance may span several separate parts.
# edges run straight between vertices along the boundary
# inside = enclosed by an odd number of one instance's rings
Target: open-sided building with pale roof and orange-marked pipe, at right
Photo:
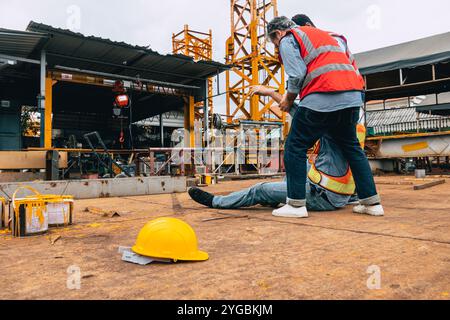
[[[400,170],[396,159],[450,169],[449,43],[444,33],[356,55],[367,86],[368,153],[381,169]]]

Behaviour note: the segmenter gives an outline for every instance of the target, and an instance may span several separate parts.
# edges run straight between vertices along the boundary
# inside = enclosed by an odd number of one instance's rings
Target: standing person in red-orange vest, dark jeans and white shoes
[[[369,161],[357,138],[356,125],[363,106],[364,79],[343,36],[315,28],[305,15],[301,26],[277,17],[267,26],[270,41],[279,48],[288,79],[280,109],[289,112],[300,95],[285,145],[287,204],[273,212],[278,217],[307,218],[307,152],[325,134],[331,136],[350,164],[360,205],[353,211],[384,215]]]

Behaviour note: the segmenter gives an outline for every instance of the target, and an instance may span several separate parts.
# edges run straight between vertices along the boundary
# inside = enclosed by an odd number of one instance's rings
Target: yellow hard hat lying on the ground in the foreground
[[[197,236],[191,226],[174,218],[159,218],[147,223],[132,250],[141,256],[174,261],[209,259],[206,252],[198,250]]]

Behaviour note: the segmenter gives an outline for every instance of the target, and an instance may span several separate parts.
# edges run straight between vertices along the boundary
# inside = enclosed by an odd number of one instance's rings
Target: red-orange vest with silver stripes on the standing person
[[[335,39],[340,37],[347,43],[345,37],[313,27],[296,27],[288,34],[297,40],[300,55],[307,66],[301,100],[311,93],[364,91],[364,78],[355,58]]]

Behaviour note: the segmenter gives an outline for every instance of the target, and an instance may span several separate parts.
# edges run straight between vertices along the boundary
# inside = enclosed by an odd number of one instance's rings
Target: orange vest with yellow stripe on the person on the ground
[[[366,140],[366,128],[364,125],[359,124],[357,127],[358,140],[361,147],[364,149]],[[320,144],[316,146],[315,151],[320,151]],[[321,186],[322,188],[331,191],[336,194],[341,194],[345,196],[352,196],[355,194],[356,185],[353,179],[353,174],[348,166],[347,173],[342,177],[334,177],[320,171],[316,168],[315,164],[312,163],[311,170],[308,173],[308,178],[315,184]]]

